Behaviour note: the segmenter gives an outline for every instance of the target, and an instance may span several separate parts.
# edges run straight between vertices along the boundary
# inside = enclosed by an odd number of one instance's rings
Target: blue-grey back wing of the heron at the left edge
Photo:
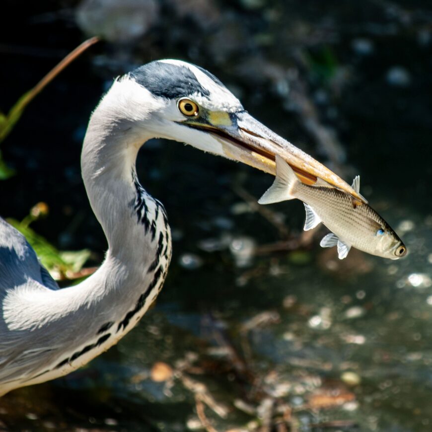
[[[49,289],[59,289],[24,236],[0,217],[0,301],[6,290],[31,280]]]

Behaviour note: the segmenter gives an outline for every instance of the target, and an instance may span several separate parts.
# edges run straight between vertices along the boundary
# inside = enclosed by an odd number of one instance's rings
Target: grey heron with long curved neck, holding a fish
[[[25,238],[0,218],[0,395],[65,375],[116,344],[144,315],[167,274],[165,209],[138,181],[151,138],[190,144],[275,174],[283,157],[303,182],[321,178],[361,199],[332,171],[244,110],[210,72],[154,61],[117,78],[91,115],[81,172],[108,241],[89,278],[60,289]]]

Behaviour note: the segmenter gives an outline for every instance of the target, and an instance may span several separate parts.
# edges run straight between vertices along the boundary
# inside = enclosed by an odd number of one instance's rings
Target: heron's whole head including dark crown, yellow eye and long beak
[[[198,66],[154,61],[118,82],[123,90],[128,86],[129,115],[152,137],[190,144],[273,175],[279,154],[304,183],[321,178],[363,200],[335,173],[255,120],[212,73]]]

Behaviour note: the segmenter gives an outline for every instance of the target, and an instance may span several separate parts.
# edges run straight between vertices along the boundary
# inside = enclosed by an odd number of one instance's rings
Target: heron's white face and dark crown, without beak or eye
[[[226,157],[220,140],[212,134],[188,127],[187,124],[191,122],[209,124],[207,122],[209,119],[212,121],[210,124],[216,122],[215,126],[218,126],[217,122],[222,122],[224,127],[229,127],[231,125],[229,113],[243,111],[240,101],[216,77],[194,65],[178,60],[162,60],[154,63],[158,64],[155,65],[156,72],[160,73],[161,69],[163,72],[162,65],[167,65],[170,70],[178,69],[189,76],[184,79],[169,76],[167,79],[168,81],[171,79],[171,82],[166,82],[162,78],[159,79],[159,76],[148,77],[148,71],[144,69],[143,73],[147,73],[144,78],[149,81],[144,86],[134,76],[126,75],[116,81],[109,92],[111,106],[115,103],[122,111],[119,114],[131,120],[134,128],[138,129],[136,135],[137,138],[140,137],[141,142],[143,134],[146,134],[147,139],[174,140]],[[144,66],[146,67],[148,68],[148,65]],[[166,91],[166,94],[159,95],[159,91],[161,93]],[[179,102],[184,99],[196,104],[199,111],[197,116],[182,112]]]

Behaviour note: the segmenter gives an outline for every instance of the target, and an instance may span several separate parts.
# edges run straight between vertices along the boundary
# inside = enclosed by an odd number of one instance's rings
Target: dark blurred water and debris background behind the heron
[[[0,111],[96,34],[0,144],[2,217],[46,203],[41,241],[100,264],[79,168],[89,115],[117,75],[177,58],[348,182],[360,174],[409,256],[339,261],[324,227],[302,232],[300,202],[256,205],[271,176],[153,140],[137,170],[174,240],[156,304],[85,368],[3,397],[0,430],[430,431],[431,3],[3,0]]]

